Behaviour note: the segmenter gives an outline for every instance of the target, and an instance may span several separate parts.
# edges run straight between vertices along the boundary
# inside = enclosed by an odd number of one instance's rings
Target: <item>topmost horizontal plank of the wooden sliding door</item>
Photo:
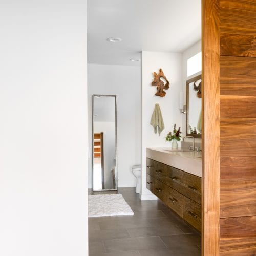
[[[220,0],[220,31],[222,33],[255,35],[255,2]]]

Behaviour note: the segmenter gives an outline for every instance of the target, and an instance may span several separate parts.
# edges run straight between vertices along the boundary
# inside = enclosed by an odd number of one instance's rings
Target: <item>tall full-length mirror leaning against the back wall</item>
[[[93,95],[93,191],[117,190],[116,95]]]

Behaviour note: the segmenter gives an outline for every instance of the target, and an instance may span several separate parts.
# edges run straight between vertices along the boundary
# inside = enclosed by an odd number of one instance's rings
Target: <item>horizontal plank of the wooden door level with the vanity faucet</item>
[[[220,119],[221,157],[256,156],[256,118]],[[239,147],[239,148],[238,148]]]

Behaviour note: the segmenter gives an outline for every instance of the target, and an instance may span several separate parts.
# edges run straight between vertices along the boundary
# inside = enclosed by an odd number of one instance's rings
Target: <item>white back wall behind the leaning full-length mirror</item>
[[[117,95],[118,187],[132,187],[136,179],[132,166],[140,164],[140,67],[88,65],[89,145],[92,143],[92,95]],[[88,181],[92,187],[92,155]]]

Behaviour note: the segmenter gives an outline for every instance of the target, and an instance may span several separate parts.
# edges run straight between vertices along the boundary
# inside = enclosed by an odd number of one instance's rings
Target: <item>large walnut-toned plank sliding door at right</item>
[[[255,255],[255,0],[204,0],[203,41],[203,251]]]

